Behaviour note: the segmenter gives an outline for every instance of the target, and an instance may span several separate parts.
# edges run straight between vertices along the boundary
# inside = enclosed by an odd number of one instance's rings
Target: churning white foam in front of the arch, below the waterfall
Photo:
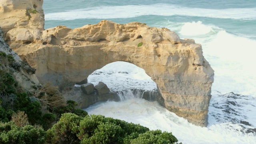
[[[254,134],[244,134],[237,131],[241,128],[238,124],[231,122],[214,123],[213,116],[210,115],[209,126],[202,128],[169,112],[159,106],[157,102],[149,102],[139,98],[131,98],[121,102],[98,103],[85,110],[88,114],[101,114],[106,117],[141,124],[150,130],[160,129],[172,132],[183,144],[254,144],[256,141]],[[218,112],[218,109],[213,109],[211,112]]]

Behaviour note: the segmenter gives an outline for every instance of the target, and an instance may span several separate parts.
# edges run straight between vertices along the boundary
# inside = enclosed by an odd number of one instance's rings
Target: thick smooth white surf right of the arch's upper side
[[[256,96],[256,40],[220,31],[211,41],[202,43],[204,54],[215,70],[213,89]]]

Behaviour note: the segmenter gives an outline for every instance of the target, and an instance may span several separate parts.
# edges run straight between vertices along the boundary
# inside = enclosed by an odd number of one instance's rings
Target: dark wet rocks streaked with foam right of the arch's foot
[[[230,125],[228,128],[244,134],[256,134],[256,126],[250,123],[255,121],[255,110],[256,98],[253,96],[216,92],[216,96],[212,96],[210,101],[208,116],[213,121],[209,123]],[[236,124],[236,127],[231,124]]]

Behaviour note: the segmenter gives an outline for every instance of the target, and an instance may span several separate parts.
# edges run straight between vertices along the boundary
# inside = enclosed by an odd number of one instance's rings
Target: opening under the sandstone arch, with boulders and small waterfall
[[[96,102],[107,100],[123,101],[131,98],[143,98],[164,104],[156,83],[142,68],[128,62],[118,61],[106,64],[104,67],[92,72],[87,79],[81,82],[77,83],[74,88],[75,91],[81,92],[81,97],[83,97],[78,101],[81,108],[86,108]],[[106,84],[110,90],[108,93],[99,94],[101,92],[98,92],[98,85],[101,82]],[[94,86],[94,91],[88,92],[88,89],[85,90],[86,88],[84,87],[89,88],[92,85]],[[99,91],[102,91],[102,89]],[[105,89],[103,91],[106,92]]]

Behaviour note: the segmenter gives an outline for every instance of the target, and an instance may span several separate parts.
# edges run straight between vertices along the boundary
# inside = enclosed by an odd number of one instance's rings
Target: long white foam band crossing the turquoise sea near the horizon
[[[210,18],[256,19],[256,8],[230,8],[216,10],[204,8],[188,8],[170,4],[100,6],[70,10],[66,12],[46,13],[45,20],[132,18],[144,15],[181,15]]]

